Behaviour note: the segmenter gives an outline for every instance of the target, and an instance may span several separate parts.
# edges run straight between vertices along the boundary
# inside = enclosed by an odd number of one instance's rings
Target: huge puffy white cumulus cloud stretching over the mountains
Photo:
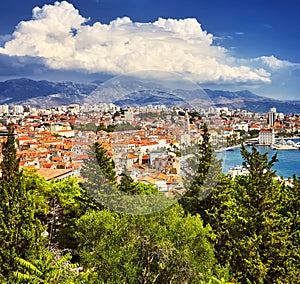
[[[196,19],[109,24],[88,19],[68,2],[36,7],[30,21],[16,27],[0,53],[44,60],[57,70],[123,74],[140,70],[174,71],[197,82],[270,82],[261,67],[237,64]],[[267,61],[266,61],[267,62]],[[269,60],[269,66],[270,63]]]

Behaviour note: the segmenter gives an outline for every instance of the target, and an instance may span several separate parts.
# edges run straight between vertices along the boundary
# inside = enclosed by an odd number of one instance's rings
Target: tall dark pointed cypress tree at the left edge
[[[16,270],[16,257],[34,257],[45,242],[41,236],[45,229],[34,214],[35,204],[24,185],[15,143],[14,129],[8,126],[0,164],[0,274],[6,279]]]

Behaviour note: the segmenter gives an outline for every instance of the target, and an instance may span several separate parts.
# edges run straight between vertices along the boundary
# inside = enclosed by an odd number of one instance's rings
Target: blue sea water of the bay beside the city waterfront
[[[300,139],[294,139],[294,142],[300,142]],[[275,163],[273,170],[276,170],[277,176],[284,178],[292,177],[296,174],[300,177],[300,150],[272,150],[268,146],[255,146],[260,153],[268,153],[269,159],[277,152],[278,162]],[[246,146],[248,151],[251,151],[251,146]],[[223,173],[227,174],[228,170],[234,166],[242,165],[243,158],[241,149],[235,148],[233,151],[224,151],[216,153],[219,159],[223,160]]]

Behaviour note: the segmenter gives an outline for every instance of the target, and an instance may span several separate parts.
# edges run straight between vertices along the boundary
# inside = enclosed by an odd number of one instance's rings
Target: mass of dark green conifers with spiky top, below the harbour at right
[[[216,257],[230,264],[234,281],[296,283],[299,191],[274,180],[276,155],[269,160],[256,148],[241,152],[249,175],[223,177],[203,203],[201,215],[216,234]]]

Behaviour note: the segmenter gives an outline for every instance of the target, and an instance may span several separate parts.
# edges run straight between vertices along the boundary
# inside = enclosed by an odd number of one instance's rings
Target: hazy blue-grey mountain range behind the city
[[[166,105],[228,107],[267,112],[276,107],[278,112],[299,113],[300,101],[276,100],[256,95],[248,90],[222,91],[164,86],[161,82],[142,80],[114,80],[75,83],[70,81],[34,81],[27,78],[0,82],[0,104],[26,104],[37,107],[69,105],[72,103],[114,103],[126,107]]]

